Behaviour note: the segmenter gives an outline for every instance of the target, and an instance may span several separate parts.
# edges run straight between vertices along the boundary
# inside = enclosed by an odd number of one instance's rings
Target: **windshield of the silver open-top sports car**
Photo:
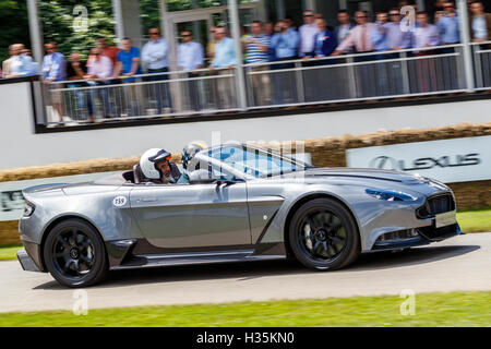
[[[247,145],[226,145],[213,148],[208,151],[208,156],[241,173],[255,178],[301,171],[308,167],[308,165],[285,155]]]

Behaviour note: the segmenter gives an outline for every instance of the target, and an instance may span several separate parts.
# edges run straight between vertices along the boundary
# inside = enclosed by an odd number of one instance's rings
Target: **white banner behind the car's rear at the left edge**
[[[0,182],[0,221],[21,219],[24,212],[24,197],[22,196],[23,189],[49,183],[89,182],[117,172],[118,171]]]

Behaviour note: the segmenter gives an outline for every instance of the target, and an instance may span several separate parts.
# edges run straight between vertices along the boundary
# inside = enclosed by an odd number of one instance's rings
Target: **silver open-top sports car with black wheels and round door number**
[[[460,232],[452,191],[394,171],[316,168],[271,151],[201,151],[179,184],[125,171],[24,190],[26,270],[86,287],[109,269],[296,258],[315,270],[360,252],[406,249]],[[180,181],[181,182],[181,181]]]

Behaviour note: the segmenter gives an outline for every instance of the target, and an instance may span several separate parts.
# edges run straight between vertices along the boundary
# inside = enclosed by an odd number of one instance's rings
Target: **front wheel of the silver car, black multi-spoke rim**
[[[351,213],[332,198],[315,198],[294,214],[289,246],[298,262],[314,270],[334,270],[355,262],[360,236]]]

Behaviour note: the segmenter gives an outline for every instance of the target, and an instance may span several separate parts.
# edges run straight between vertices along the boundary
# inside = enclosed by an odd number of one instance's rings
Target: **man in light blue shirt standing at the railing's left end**
[[[67,67],[64,56],[57,52],[57,44],[55,41],[45,45],[47,55],[43,59],[43,76],[45,84],[49,85],[49,88],[57,89],[61,88],[62,84],[58,82],[64,81],[67,76]],[[61,105],[61,92],[51,91],[51,105],[52,108],[58,112],[60,122],[63,122],[63,109]]]

